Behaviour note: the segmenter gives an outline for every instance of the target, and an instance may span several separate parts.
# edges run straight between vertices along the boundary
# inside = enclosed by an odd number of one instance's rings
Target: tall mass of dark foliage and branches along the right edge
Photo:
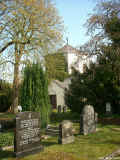
[[[84,74],[77,73],[76,84],[70,86],[72,99],[67,96],[67,102],[79,112],[86,103],[92,104],[101,114],[110,102],[113,113],[120,113],[120,1],[99,1],[87,24],[94,37],[88,51],[97,56],[97,63]]]

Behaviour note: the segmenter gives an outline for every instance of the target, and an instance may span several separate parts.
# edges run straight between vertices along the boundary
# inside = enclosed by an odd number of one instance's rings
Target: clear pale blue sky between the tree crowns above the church
[[[68,43],[73,47],[83,45],[89,39],[84,24],[96,6],[96,0],[55,0],[55,3],[64,21],[65,42],[68,37]]]

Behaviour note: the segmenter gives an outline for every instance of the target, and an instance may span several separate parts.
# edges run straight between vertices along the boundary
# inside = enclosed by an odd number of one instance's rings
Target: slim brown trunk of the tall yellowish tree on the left
[[[17,113],[18,98],[19,98],[19,63],[20,57],[17,51],[17,44],[15,44],[15,64],[14,64],[14,80],[13,80],[13,103],[12,112]]]

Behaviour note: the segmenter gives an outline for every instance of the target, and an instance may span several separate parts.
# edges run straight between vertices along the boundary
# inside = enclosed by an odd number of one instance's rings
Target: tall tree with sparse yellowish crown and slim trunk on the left
[[[0,17],[0,54],[12,50],[14,64],[13,105],[19,97],[19,67],[25,55],[40,54],[61,39],[62,24],[50,0],[11,0],[3,3],[7,12]]]

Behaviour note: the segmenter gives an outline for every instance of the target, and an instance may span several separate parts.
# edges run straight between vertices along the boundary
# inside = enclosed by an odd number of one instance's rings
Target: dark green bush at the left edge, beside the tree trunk
[[[0,112],[5,112],[12,104],[12,87],[5,81],[0,81]]]

